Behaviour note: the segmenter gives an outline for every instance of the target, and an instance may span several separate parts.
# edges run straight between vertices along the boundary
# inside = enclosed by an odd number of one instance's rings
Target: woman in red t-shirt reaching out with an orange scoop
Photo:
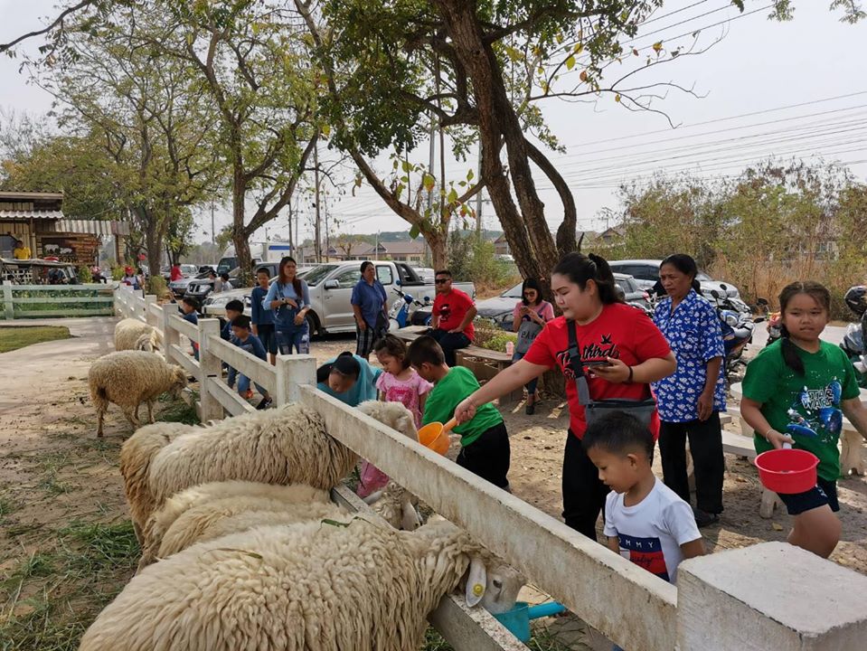
[[[581,361],[608,363],[586,367],[592,400],[650,397],[650,382],[674,373],[676,362],[664,335],[639,309],[617,295],[608,262],[595,255],[570,253],[551,274],[551,291],[563,316],[549,321],[520,362],[512,364],[457,405],[458,422],[473,418],[476,407],[514,391],[554,366],[566,376],[570,427],[563,455],[563,518],[571,528],[596,540],[596,521],[608,487],[581,447],[587,423],[569,363],[567,325],[576,328]],[[659,418],[654,413],[654,436]]]

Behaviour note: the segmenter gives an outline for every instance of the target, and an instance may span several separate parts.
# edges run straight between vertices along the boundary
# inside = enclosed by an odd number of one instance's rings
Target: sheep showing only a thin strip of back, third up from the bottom
[[[141,431],[140,429],[139,432]],[[136,436],[138,436],[138,432]],[[121,460],[123,459],[123,451],[124,449],[121,448]],[[259,482],[223,481],[210,482],[187,488],[169,497],[165,500],[164,505],[147,518],[141,539],[142,557],[138,563],[139,571],[146,565],[154,562],[157,556],[165,555],[159,553],[160,546],[163,543],[165,533],[173,528],[178,518],[203,505],[210,505],[214,502],[234,497],[256,498],[263,503],[276,502],[282,505],[331,504],[328,491],[322,488],[307,486],[306,484],[277,486],[261,484]],[[127,495],[128,498],[129,495]],[[132,501],[130,500],[130,502]]]

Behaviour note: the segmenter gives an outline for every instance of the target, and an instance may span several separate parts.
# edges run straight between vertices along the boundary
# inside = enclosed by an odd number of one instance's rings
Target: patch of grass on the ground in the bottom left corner
[[[132,524],[73,522],[0,580],[0,651],[73,651],[138,560]]]

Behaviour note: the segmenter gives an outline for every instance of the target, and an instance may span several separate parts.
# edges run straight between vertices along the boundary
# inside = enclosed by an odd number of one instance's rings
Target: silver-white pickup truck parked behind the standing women
[[[392,288],[410,292],[413,297],[419,298],[422,302],[426,296],[433,301],[436,286],[431,282],[424,282],[419,278],[416,270],[406,262],[379,260],[372,260],[372,262],[376,267],[376,278],[382,283],[388,295],[389,306],[398,298],[391,291]],[[311,335],[355,331],[350,299],[353,295],[353,287],[362,277],[361,265],[360,260],[326,262],[302,274],[310,291],[311,307],[307,313],[307,323],[310,325]],[[274,282],[274,278],[271,278],[271,282]],[[473,299],[476,298],[476,286],[471,282],[455,282],[453,287],[466,292]],[[250,288],[233,289],[212,295],[204,301],[202,311],[207,316],[224,316],[226,303],[232,298],[243,300],[246,307],[244,311],[250,314]]]

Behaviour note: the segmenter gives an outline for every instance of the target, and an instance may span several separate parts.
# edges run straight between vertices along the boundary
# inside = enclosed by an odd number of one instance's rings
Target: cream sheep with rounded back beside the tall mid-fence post
[[[410,410],[400,403],[367,401],[358,409],[401,431],[415,430]],[[293,404],[241,414],[195,429],[160,449],[149,462],[144,490],[139,486],[137,491],[141,501],[130,504],[130,513],[141,531],[168,497],[227,479],[330,489],[357,462],[357,454],[328,436],[316,410]]]

